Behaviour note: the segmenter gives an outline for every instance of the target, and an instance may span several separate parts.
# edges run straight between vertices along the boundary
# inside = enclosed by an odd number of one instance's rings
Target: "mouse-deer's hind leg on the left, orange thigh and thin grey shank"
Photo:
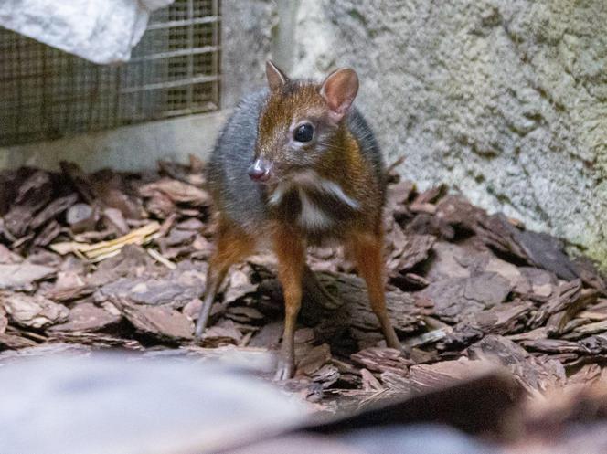
[[[240,228],[224,219],[219,220],[216,249],[208,263],[207,283],[196,323],[196,337],[200,337],[207,327],[208,314],[229,267],[246,259],[253,246],[252,238]]]

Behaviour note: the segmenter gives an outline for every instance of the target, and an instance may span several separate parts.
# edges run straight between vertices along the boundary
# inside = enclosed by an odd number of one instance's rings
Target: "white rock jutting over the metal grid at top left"
[[[150,13],[174,0],[3,0],[0,26],[94,63],[128,61]]]

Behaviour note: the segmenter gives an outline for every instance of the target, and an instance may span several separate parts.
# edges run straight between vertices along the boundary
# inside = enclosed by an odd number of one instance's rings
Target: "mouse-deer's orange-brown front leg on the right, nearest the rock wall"
[[[402,349],[399,338],[394,333],[386,310],[384,291],[383,234],[371,232],[354,232],[349,241],[349,248],[357,263],[357,269],[367,282],[368,298],[371,308],[378,316],[386,343],[391,348]]]

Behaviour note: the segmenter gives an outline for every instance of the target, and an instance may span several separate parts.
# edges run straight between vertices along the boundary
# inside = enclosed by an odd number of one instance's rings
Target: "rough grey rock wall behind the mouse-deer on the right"
[[[270,12],[291,74],[357,69],[358,107],[421,188],[445,182],[607,265],[607,2],[301,0],[282,33],[290,2],[238,4]]]

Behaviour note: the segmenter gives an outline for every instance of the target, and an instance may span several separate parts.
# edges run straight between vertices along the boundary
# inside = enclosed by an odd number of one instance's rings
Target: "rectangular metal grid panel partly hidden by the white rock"
[[[220,16],[219,0],[176,0],[115,67],[0,28],[0,145],[217,110]]]

